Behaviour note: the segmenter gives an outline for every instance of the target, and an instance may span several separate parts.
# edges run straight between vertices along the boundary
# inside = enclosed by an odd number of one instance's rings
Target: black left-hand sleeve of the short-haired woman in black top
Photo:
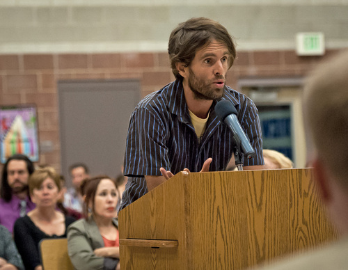
[[[35,267],[41,264],[40,254],[38,245],[33,239],[31,226],[26,224],[25,218],[24,216],[23,218],[17,219],[15,227],[13,228],[13,235],[24,265],[26,268],[35,269]]]

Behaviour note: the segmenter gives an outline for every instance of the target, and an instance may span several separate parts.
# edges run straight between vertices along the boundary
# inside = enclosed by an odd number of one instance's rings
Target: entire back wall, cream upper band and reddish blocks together
[[[235,36],[234,87],[242,77],[305,76],[348,47],[348,0],[172,2],[0,0],[0,104],[37,104],[40,143],[53,143],[40,163],[60,169],[58,80],[138,78],[145,96],[174,79],[168,37],[189,17],[216,19]],[[299,31],[324,32],[325,56],[296,56]]]

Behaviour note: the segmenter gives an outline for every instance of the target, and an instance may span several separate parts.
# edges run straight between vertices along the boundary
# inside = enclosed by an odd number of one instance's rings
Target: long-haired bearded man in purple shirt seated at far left
[[[20,216],[34,209],[28,192],[28,179],[35,170],[33,162],[23,154],[9,157],[3,166],[0,190],[0,224],[11,233]]]

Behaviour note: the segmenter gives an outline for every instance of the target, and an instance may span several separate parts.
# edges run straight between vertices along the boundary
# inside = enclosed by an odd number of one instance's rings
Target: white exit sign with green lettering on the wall
[[[303,32],[296,34],[296,52],[299,56],[324,55],[324,33]]]

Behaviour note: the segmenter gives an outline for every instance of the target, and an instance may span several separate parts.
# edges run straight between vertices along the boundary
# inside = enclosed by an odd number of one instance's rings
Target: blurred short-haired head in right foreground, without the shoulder
[[[308,77],[303,97],[306,132],[315,148],[312,164],[329,213],[348,232],[348,51]]]

